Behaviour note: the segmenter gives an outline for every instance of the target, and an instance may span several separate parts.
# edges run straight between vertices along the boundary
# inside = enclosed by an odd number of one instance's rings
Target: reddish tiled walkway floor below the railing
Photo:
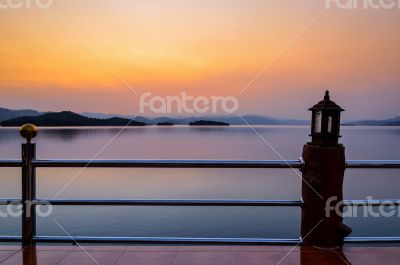
[[[293,250],[293,251],[292,251]],[[0,264],[23,265],[399,265],[400,248],[342,251],[279,246],[0,246]]]

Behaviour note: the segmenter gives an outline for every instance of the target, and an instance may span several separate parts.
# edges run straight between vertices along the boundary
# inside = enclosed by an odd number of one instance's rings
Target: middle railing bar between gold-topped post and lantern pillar
[[[297,206],[301,200],[36,200],[36,205],[69,206]]]

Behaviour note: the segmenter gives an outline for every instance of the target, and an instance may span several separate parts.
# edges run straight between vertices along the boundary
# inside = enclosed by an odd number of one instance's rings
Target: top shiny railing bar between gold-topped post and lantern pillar
[[[34,167],[302,168],[301,160],[34,160]]]

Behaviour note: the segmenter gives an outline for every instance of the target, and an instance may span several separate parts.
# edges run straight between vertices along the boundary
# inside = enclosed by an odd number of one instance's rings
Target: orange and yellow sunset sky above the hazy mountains
[[[186,92],[237,97],[241,114],[307,118],[330,89],[346,119],[391,118],[400,115],[399,21],[400,9],[323,0],[0,9],[0,107],[133,114],[145,92]]]

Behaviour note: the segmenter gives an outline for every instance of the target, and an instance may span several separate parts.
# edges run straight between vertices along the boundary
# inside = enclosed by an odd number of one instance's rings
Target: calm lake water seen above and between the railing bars
[[[301,156],[306,126],[255,126],[285,159]],[[121,128],[41,129],[39,159],[91,159]],[[347,159],[400,159],[400,128],[344,127]],[[0,159],[20,157],[16,128],[0,128]],[[127,128],[99,159],[280,159],[248,127]],[[55,196],[81,169],[38,169],[39,198]],[[345,199],[400,198],[400,170],[347,170]],[[0,197],[20,197],[20,169],[0,168]],[[287,169],[85,169],[57,198],[295,199],[301,179]],[[4,207],[0,207],[5,211]],[[55,207],[39,235],[297,238],[296,207]],[[20,219],[0,218],[1,235],[19,235]],[[400,218],[346,218],[353,236],[400,236]]]

